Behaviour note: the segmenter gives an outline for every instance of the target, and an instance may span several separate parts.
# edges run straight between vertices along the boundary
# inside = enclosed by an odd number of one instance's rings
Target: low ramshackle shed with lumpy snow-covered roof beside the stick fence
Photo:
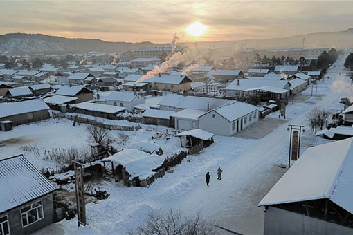
[[[137,149],[123,149],[102,162],[105,166],[111,164],[113,175],[127,186],[147,187],[164,176],[164,157]]]

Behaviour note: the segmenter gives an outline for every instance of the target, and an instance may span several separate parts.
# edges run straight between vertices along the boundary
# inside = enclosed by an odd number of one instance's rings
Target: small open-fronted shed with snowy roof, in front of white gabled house
[[[203,144],[203,146],[210,145],[213,142],[214,134],[201,129],[193,129],[181,132],[175,136],[180,138],[181,147],[192,148],[199,144]]]

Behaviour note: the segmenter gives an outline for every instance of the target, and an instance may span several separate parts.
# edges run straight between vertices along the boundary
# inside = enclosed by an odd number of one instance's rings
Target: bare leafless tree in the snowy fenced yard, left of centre
[[[105,149],[108,149],[111,142],[113,142],[110,130],[104,121],[98,119],[91,120],[89,124],[87,124],[86,129],[89,131],[89,138],[102,145]]]

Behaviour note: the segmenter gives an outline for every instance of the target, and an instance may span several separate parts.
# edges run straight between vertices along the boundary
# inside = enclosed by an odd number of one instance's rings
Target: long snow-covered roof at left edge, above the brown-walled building
[[[25,100],[21,102],[0,103],[0,118],[6,118],[21,113],[47,110],[48,105],[43,100]]]

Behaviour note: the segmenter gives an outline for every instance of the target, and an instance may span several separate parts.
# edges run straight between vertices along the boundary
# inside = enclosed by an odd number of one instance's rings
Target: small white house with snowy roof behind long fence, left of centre
[[[125,107],[129,112],[134,110],[134,105],[144,104],[145,102],[146,99],[142,95],[127,91],[114,91],[105,97],[105,104]]]

